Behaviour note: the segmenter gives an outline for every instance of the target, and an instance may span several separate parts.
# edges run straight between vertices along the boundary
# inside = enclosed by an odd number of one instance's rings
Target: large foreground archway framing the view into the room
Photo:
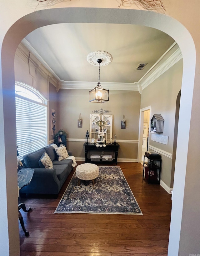
[[[2,44],[2,92],[3,92],[3,128],[5,143],[5,170],[2,176],[7,193],[3,199],[8,219],[8,236],[2,243],[9,255],[19,252],[17,207],[17,172],[16,172],[16,125],[15,125],[15,93],[14,93],[14,56],[20,41],[34,29],[57,23],[114,23],[138,24],[159,29],[170,35],[179,45],[183,54],[183,80],[179,112],[177,140],[177,157],[174,176],[174,192],[168,255],[178,255],[180,229],[183,209],[183,195],[187,164],[187,149],[192,107],[192,93],[195,72],[195,46],[187,29],[173,18],[166,15],[142,10],[112,8],[55,8],[30,13],[20,18],[8,30]],[[185,123],[187,120],[187,123]],[[9,156],[9,157],[8,157]],[[13,159],[12,161],[10,159]],[[181,174],[181,175],[180,175]],[[180,176],[181,179],[180,179]],[[2,232],[3,232],[2,230]],[[8,246],[9,241],[9,246]],[[9,249],[7,248],[9,247]],[[5,254],[6,255],[6,254]]]

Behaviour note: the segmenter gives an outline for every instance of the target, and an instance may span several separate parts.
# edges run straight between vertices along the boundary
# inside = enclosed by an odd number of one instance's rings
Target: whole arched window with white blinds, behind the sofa
[[[15,82],[17,146],[20,155],[47,145],[47,99],[26,84]]]

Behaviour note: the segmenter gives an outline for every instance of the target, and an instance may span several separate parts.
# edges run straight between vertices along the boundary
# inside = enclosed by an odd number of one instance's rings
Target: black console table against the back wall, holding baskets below
[[[101,151],[99,152],[99,154],[102,154],[102,151],[105,151],[108,153],[108,151],[113,151],[114,152],[114,159],[113,161],[111,162],[103,162],[102,159],[101,159],[101,163],[116,163],[117,165],[117,162],[118,162],[118,149],[120,147],[120,145],[118,143],[116,144],[106,144],[105,148],[104,147],[97,147],[96,146],[96,143],[92,144],[92,143],[84,143],[83,146],[85,146],[85,162],[86,163],[91,163],[91,159],[88,158],[88,151],[90,152],[94,152],[94,151]],[[100,162],[100,161],[99,161]],[[97,163],[99,163],[97,162]],[[94,163],[94,162],[93,162]]]

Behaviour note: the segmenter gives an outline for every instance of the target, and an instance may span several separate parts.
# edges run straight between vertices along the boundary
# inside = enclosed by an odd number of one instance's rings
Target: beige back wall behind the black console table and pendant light
[[[94,87],[96,84],[94,83]],[[103,85],[102,85],[103,86]],[[93,88],[91,88],[93,89]],[[113,134],[117,135],[120,144],[119,158],[137,159],[138,125],[141,95],[138,91],[109,91],[109,101],[103,104],[89,102],[89,90],[60,89],[58,91],[58,130],[64,129],[68,139],[68,150],[72,150],[75,157],[84,157],[83,141],[90,127],[90,114],[102,108],[111,111],[113,115]],[[83,119],[83,128],[78,128],[79,114]],[[126,129],[121,129],[123,114],[126,118]],[[79,139],[79,141],[77,140]],[[120,142],[125,140],[125,142]],[[131,143],[126,140],[132,140]]]

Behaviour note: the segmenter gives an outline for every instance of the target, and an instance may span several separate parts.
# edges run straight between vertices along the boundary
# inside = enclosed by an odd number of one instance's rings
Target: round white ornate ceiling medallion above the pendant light
[[[94,51],[88,54],[87,60],[88,62],[93,66],[98,66],[97,60],[102,60],[101,66],[106,66],[111,63],[113,60],[113,57],[108,53],[104,51]]]

